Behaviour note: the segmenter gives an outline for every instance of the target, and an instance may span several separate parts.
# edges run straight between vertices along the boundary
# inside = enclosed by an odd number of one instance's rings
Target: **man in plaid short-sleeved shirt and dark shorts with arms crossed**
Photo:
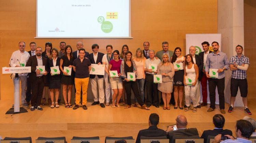
[[[232,56],[230,58],[230,70],[232,71],[231,75],[231,97],[230,97],[230,107],[228,112],[233,112],[234,109],[234,101],[236,100],[238,87],[240,89],[241,96],[243,98],[244,103],[244,112],[251,115],[252,113],[247,107],[247,92],[248,85],[246,79],[246,71],[250,65],[249,58],[242,54],[243,47],[238,45],[236,47],[237,55]]]

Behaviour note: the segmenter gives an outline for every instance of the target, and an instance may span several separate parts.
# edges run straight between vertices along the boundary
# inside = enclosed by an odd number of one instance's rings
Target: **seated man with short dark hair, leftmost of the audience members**
[[[140,130],[136,139],[136,143],[140,143],[140,137],[162,137],[166,136],[166,132],[162,129],[157,128],[157,124],[159,124],[159,116],[156,113],[150,114],[150,118],[148,119],[148,125],[150,126],[148,129]]]

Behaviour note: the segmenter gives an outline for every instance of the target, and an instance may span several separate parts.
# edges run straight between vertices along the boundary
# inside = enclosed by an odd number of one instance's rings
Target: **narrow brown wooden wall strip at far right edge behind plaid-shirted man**
[[[244,0],[244,55],[249,57],[250,66],[247,70],[248,98],[256,99],[256,1]]]

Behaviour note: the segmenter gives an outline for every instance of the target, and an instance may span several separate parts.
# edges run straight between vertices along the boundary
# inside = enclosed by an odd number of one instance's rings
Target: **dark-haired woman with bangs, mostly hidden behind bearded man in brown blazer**
[[[51,56],[51,53],[52,53],[52,49],[53,49],[53,44],[51,42],[47,42],[45,43],[45,50],[44,52],[42,53],[42,56],[43,57],[50,57]],[[49,73],[48,73],[49,74]],[[42,95],[42,105],[45,105],[45,93],[48,92],[48,104],[51,105],[52,102],[51,102],[51,97],[50,97],[50,92],[48,90],[48,87],[49,87],[49,81],[47,79],[47,82],[46,84],[44,84],[44,90],[43,90],[43,95]]]

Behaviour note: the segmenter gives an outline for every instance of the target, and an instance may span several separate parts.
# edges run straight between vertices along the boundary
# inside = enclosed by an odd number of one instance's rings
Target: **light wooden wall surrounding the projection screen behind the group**
[[[36,0],[1,0],[0,21],[0,67],[8,66],[19,41],[26,42],[27,51],[31,41],[43,49],[45,42],[50,41],[53,47],[59,48],[59,42],[65,41],[73,51],[76,42],[82,41],[89,53],[94,43],[99,44],[99,51],[103,53],[107,44],[118,50],[128,44],[134,53],[138,47],[143,48],[144,41],[149,41],[150,48],[155,51],[161,50],[162,41],[169,41],[170,50],[181,47],[185,54],[185,34],[217,33],[217,0],[131,0],[133,39],[34,39]],[[1,99],[13,99],[13,83],[9,76],[0,75]]]

